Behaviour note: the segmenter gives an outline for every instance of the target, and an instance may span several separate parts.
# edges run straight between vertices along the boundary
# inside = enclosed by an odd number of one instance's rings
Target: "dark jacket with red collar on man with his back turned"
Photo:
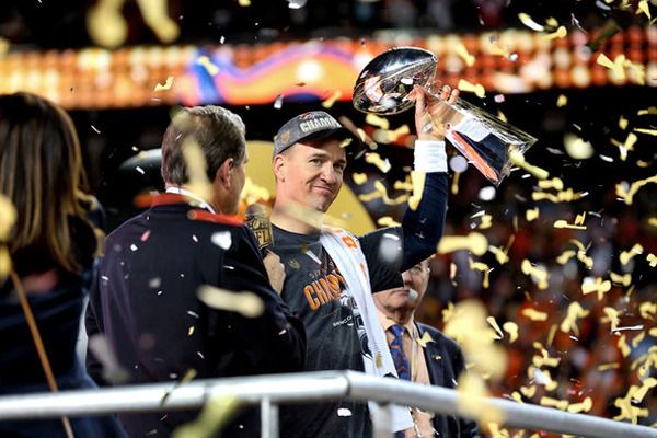
[[[196,296],[201,285],[251,291],[264,313],[209,308]],[[252,232],[180,195],[155,197],[107,237],[85,325],[90,337],[106,336],[129,383],[175,381],[192,369],[197,379],[297,371],[306,359],[303,326],[272,289]],[[103,383],[101,368],[89,354],[88,370]],[[196,414],[119,419],[131,436],[166,436]],[[257,436],[257,415],[249,412],[229,430],[224,436]]]

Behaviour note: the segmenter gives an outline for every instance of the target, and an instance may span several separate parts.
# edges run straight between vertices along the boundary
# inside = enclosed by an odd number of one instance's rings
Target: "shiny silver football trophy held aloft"
[[[414,85],[429,90],[438,58],[417,47],[393,48],[374,57],[362,69],[354,87],[354,106],[365,113],[392,115],[411,108],[407,99]],[[511,157],[519,157],[537,139],[462,99],[453,104],[427,105],[433,128],[450,141],[482,174],[499,184],[509,174]],[[510,152],[514,152],[511,155]]]

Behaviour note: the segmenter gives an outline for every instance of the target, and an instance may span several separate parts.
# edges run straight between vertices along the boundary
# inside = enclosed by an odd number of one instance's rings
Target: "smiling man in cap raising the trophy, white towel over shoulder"
[[[306,371],[357,370],[395,376],[381,330],[372,290],[403,286],[401,273],[436,252],[447,209],[448,175],[443,135],[426,129],[425,107],[454,101],[445,89],[440,99],[416,88],[416,171],[425,173],[422,199],[408,208],[402,227],[361,238],[323,227],[321,220],[337,196],[347,153],[360,142],[331,115],[314,111],[286,123],[274,141],[276,203],[272,212],[273,251],[286,269],[283,299],[303,321],[308,335]],[[443,134],[443,132],[442,132]],[[346,145],[350,139],[351,142]],[[319,217],[318,221],[308,218]],[[283,406],[281,436],[369,437],[377,405],[332,401]],[[407,408],[393,412],[392,427],[412,426]]]

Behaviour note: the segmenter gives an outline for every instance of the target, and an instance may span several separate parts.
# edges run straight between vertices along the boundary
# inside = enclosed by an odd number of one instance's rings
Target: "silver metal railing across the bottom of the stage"
[[[201,407],[209,399],[233,395],[246,404],[260,404],[262,436],[278,436],[278,404],[349,399],[416,406],[424,411],[470,417],[459,411],[458,392],[355,371],[303,372],[117,387],[99,390],[5,395],[0,397],[0,420],[85,416],[123,412],[158,412]],[[498,410],[507,427],[546,430],[583,437],[657,438],[657,429],[552,407],[480,399]],[[390,435],[388,435],[390,437]]]

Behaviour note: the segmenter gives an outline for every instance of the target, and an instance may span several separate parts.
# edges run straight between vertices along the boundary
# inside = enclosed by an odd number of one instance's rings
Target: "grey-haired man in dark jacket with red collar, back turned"
[[[87,331],[90,339],[105,335],[128,370],[129,383],[175,381],[189,372],[212,378],[303,366],[302,324],[272,288],[253,233],[232,216],[245,180],[244,135],[240,117],[224,108],[182,110],[162,141],[166,193],[107,237]],[[205,166],[192,165],[194,150],[201,151]],[[199,183],[206,175],[206,183]],[[280,288],[283,266],[276,261],[270,265],[279,269],[269,274]],[[214,295],[222,303],[201,301],[197,293],[204,286],[210,287],[206,297]],[[238,299],[233,293],[242,291],[258,298],[262,312],[254,310],[254,316],[231,308]],[[102,382],[96,359],[90,354],[88,368]],[[119,419],[131,436],[168,436],[195,415],[138,413]],[[257,436],[257,430],[256,413],[246,411],[224,436]]]

